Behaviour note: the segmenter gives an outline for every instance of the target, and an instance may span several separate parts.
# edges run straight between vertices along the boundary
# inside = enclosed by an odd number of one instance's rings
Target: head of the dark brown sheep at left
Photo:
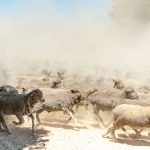
[[[26,95],[28,103],[34,107],[37,103],[44,103],[43,92],[39,89],[33,90]]]

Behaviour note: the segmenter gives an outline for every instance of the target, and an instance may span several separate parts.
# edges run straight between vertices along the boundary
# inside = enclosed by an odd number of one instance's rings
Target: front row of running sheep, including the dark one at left
[[[18,122],[13,121],[15,125],[23,124],[23,116],[27,115],[32,120],[32,132],[35,133],[34,114],[40,124],[42,123],[40,114],[43,111],[62,111],[68,116],[67,121],[73,120],[78,127],[79,123],[74,114],[81,105],[85,106],[86,109],[90,105],[99,125],[108,127],[103,137],[106,137],[110,133],[112,140],[116,141],[115,131],[118,129],[126,131],[125,126],[131,127],[135,131],[136,137],[140,136],[145,128],[150,127],[150,103],[139,100],[139,96],[134,88],[125,88],[121,80],[113,79],[113,83],[113,88],[123,91],[121,97],[106,96],[97,88],[86,92],[76,88],[64,88],[62,92],[53,94],[47,100],[44,99],[43,92],[40,89],[27,92],[26,88],[22,88],[22,92],[19,92],[13,86],[3,85],[0,87],[0,130],[1,132],[6,131],[9,134],[11,133],[5,115],[15,115],[18,119]],[[54,83],[52,88],[56,88],[58,84],[60,82]],[[113,114],[111,122],[105,124],[99,111],[111,111]]]

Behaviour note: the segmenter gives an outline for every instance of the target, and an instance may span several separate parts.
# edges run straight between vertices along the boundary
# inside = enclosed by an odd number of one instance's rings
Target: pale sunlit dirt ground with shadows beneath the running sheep
[[[85,117],[86,114],[86,117]],[[41,114],[42,125],[37,126],[36,135],[31,132],[31,120],[25,117],[24,125],[16,127],[11,122],[14,117],[8,117],[11,124],[12,134],[1,133],[0,150],[146,150],[150,147],[148,130],[142,132],[142,136],[135,139],[134,132],[128,130],[127,138],[123,131],[117,131],[118,142],[114,143],[102,135],[105,128],[100,128],[91,114],[80,108],[76,117],[80,127],[77,128],[73,122],[66,123],[63,113]],[[110,119],[110,113],[103,118]],[[84,119],[83,119],[84,118]]]

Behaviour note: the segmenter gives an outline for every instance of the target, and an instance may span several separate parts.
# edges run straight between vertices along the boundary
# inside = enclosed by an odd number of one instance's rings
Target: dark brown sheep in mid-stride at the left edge
[[[41,90],[36,89],[24,94],[0,94],[0,122],[7,133],[11,133],[9,126],[6,123],[5,115],[16,115],[19,122],[13,121],[15,125],[21,125],[24,123],[23,116],[28,115],[32,119],[32,131],[34,132],[34,116],[33,112],[38,104],[42,104],[43,93]]]

